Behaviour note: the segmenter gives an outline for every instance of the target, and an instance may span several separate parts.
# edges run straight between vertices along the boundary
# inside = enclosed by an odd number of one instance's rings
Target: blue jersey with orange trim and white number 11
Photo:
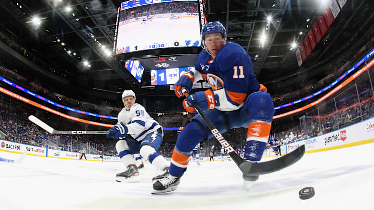
[[[226,43],[214,60],[205,50],[201,51],[195,70],[209,82],[214,94],[219,96],[219,106],[216,108],[221,111],[241,108],[246,97],[260,89],[251,57],[237,43]],[[199,78],[195,73],[195,81],[196,77]]]

